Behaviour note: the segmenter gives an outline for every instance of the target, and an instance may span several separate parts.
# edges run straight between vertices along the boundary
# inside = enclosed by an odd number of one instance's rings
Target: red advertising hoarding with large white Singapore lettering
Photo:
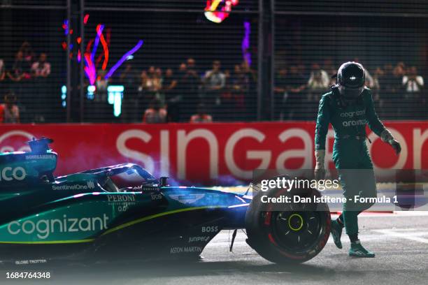
[[[387,122],[402,152],[368,130],[373,163],[382,169],[428,169],[428,123]],[[1,125],[0,151],[28,150],[33,137],[53,138],[59,154],[55,175],[133,162],[155,175],[188,182],[231,177],[248,181],[252,170],[308,169],[315,159],[313,122],[213,124]],[[334,132],[329,131],[328,167]]]

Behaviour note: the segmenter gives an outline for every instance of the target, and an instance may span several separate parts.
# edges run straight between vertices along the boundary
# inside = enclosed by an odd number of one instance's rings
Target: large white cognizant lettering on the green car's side
[[[10,235],[36,235],[36,238],[45,240],[51,233],[80,233],[105,230],[107,221],[110,219],[106,214],[103,217],[69,218],[66,214],[59,219],[39,219],[38,221],[12,221],[8,224]]]

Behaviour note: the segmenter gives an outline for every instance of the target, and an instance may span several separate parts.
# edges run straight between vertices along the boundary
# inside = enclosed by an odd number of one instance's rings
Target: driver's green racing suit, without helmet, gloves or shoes
[[[385,126],[374,110],[370,89],[364,87],[359,98],[343,101],[336,86],[322,95],[315,128],[315,151],[325,149],[329,124],[334,129],[333,161],[346,203],[343,204],[343,220],[346,233],[358,233],[357,215],[369,209],[370,203],[355,203],[355,196],[376,197],[376,180],[369,149],[366,145],[366,124],[380,136]]]

